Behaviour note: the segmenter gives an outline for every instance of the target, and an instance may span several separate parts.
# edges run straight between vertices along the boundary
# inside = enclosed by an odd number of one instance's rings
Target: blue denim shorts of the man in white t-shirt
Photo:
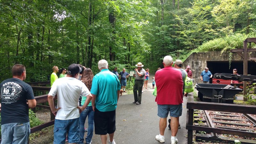
[[[54,122],[54,144],[65,143],[68,131],[68,143],[77,143],[80,136],[79,117],[69,120],[55,119]]]

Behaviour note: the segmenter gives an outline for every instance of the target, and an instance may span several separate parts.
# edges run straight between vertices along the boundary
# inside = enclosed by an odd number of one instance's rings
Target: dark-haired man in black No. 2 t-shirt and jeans
[[[26,79],[26,68],[16,64],[12,67],[12,78],[4,80],[1,88],[1,144],[28,143],[30,124],[28,108],[36,107],[31,86]]]

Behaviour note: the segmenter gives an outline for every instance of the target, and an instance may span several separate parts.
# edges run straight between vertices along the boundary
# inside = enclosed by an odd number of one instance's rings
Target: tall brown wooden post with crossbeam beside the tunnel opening
[[[248,47],[248,43],[249,43],[249,49]],[[248,60],[254,60],[256,62],[256,58],[248,58],[248,52],[256,52],[256,49],[252,49],[251,48],[251,44],[255,43],[256,44],[256,37],[252,37],[252,38],[246,38],[244,40],[244,48],[243,49],[233,49],[230,50],[230,52],[236,52],[238,55],[240,55],[243,59],[244,59],[244,75],[248,75]],[[244,92],[243,94],[246,95],[246,87],[247,84],[244,82]],[[244,98],[244,101],[246,101],[246,99]]]

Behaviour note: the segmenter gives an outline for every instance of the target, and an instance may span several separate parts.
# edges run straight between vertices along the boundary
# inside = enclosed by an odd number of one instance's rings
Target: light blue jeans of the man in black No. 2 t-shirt
[[[29,122],[2,124],[1,134],[1,144],[26,144],[30,134],[30,124]]]

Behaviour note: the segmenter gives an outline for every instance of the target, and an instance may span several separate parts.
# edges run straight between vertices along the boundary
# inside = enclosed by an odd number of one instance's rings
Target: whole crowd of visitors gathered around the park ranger
[[[174,66],[172,67],[172,65]],[[167,117],[170,115],[169,128],[171,143],[176,144],[176,134],[180,128],[179,117],[182,113],[184,95],[184,82],[186,77],[193,78],[190,66],[182,69],[182,61],[172,61],[171,56],[163,59],[164,68],[158,68],[152,78],[152,88],[157,87],[156,103],[160,117],[159,131],[156,140],[165,142],[164,131],[167,126]],[[148,89],[149,69],[143,68],[141,62],[135,65],[133,95],[136,105],[141,104],[142,88]],[[55,115],[54,142],[91,144],[93,129],[100,135],[102,144],[116,144],[114,133],[116,131],[116,108],[120,96],[120,89],[125,91],[127,78],[130,76],[123,68],[120,73],[117,67],[109,71],[108,62],[98,62],[100,72],[94,76],[90,68],[80,64],[71,64],[66,68],[52,67],[51,90],[48,93],[48,102]],[[58,78],[57,73],[60,73]],[[233,69],[236,74],[237,69]],[[30,85],[23,82],[26,78],[26,69],[16,64],[12,67],[12,78],[4,80],[1,84],[1,143],[28,143],[30,134],[28,108],[36,107],[33,90]],[[212,74],[208,68],[201,73],[203,83],[209,83]],[[120,79],[120,82],[119,82]],[[232,81],[236,83],[236,81]],[[172,90],[170,91],[170,87]],[[54,97],[58,95],[57,106]],[[18,109],[16,107],[19,107]],[[88,117],[87,136],[84,139],[85,120]],[[15,127],[15,129],[13,129]],[[23,129],[22,134],[17,134]],[[109,138],[109,141],[107,141]]]

